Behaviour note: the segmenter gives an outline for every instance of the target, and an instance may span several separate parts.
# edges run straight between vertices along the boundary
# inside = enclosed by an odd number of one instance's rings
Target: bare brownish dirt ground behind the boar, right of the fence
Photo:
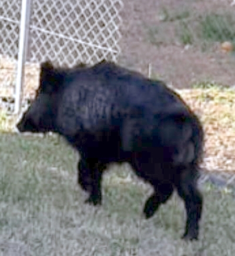
[[[172,17],[187,12],[189,18],[185,21],[193,21],[190,29],[194,34],[194,20],[199,19],[199,14],[235,11],[230,3],[228,0],[181,0],[180,3],[177,0],[125,0],[120,63],[146,75],[148,65],[152,64],[153,76],[160,76],[176,88],[189,88],[192,82],[205,80],[233,86],[234,54],[221,51],[218,43],[204,52],[199,42],[192,46],[182,45],[176,36],[180,18],[162,21],[164,10]]]

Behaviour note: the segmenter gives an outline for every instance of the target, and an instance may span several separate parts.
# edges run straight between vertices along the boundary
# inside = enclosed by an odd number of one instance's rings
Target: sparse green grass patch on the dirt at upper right
[[[182,45],[199,46],[202,51],[224,41],[235,46],[235,18],[227,9],[221,14],[163,6],[157,15],[160,24],[145,27],[150,44],[159,46],[179,41]]]

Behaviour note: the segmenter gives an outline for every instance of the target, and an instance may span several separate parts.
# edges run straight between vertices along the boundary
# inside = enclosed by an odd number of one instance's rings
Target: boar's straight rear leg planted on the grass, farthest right
[[[199,235],[199,220],[202,215],[203,198],[197,189],[195,169],[185,169],[176,183],[177,192],[184,200],[187,220],[183,235],[184,240],[197,240]]]

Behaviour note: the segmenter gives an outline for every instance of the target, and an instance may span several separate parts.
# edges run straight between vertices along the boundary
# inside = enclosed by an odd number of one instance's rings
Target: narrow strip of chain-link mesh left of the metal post
[[[13,111],[21,0],[0,3],[0,104]]]

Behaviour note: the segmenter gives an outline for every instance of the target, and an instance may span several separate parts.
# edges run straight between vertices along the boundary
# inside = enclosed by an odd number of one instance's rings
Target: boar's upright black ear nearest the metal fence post
[[[61,75],[58,70],[53,67],[52,62],[42,62],[40,70],[40,90],[45,93],[55,92],[60,82]]]

